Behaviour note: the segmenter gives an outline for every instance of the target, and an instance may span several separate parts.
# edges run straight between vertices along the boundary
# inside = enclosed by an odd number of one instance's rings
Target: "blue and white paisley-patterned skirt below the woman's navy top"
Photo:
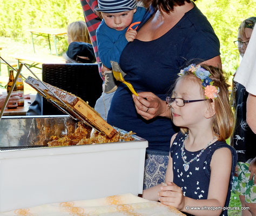
[[[157,152],[146,153],[143,190],[159,185],[165,180],[169,153],[168,155],[160,155],[155,153]]]

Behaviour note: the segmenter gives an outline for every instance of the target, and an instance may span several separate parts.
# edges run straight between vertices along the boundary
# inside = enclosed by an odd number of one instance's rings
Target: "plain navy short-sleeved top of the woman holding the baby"
[[[194,6],[171,30],[158,39],[143,42],[135,39],[126,45],[120,66],[125,80],[137,92],[153,92],[165,100],[177,73],[190,63],[211,59],[219,53],[219,40],[211,24]],[[114,93],[107,122],[126,131],[136,132],[149,141],[147,153],[168,155],[174,130],[171,119],[157,117],[145,120],[137,114],[131,92],[120,84]]]

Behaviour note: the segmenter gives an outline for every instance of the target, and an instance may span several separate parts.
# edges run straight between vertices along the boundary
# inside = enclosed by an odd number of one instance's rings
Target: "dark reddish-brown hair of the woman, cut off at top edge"
[[[196,1],[196,0],[194,0]],[[167,13],[173,11],[174,6],[184,5],[185,2],[190,3],[190,0],[152,0],[151,5],[160,11],[165,11]]]

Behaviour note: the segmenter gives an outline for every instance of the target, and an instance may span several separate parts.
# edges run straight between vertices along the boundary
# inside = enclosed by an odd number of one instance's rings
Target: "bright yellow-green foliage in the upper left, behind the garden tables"
[[[30,29],[66,29],[69,23],[84,20],[79,0],[1,0],[0,10],[0,36],[29,43]],[[48,44],[43,37],[38,37],[35,43]],[[63,47],[67,43],[60,40],[58,45]]]

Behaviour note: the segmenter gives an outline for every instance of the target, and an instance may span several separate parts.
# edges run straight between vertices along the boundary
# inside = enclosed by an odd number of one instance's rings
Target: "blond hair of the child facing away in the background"
[[[68,36],[70,37],[70,43],[85,42],[85,43],[91,44],[90,35],[84,21],[76,21],[76,22],[70,23],[67,29],[68,29]]]

